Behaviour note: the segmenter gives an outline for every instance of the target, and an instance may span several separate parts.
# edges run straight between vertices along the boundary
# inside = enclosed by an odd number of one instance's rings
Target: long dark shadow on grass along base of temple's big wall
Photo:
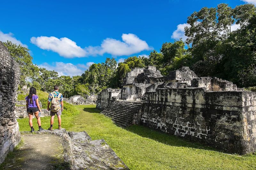
[[[209,151],[218,151],[212,147],[205,146],[198,143],[192,143],[192,142],[189,142],[187,139],[181,139],[180,137],[177,137],[177,136],[168,135],[164,132],[152,130],[142,125],[133,125],[125,129],[132,133],[140,135],[141,137],[153,139],[157,142],[167,144],[167,145],[189,147],[189,148],[195,148],[195,149],[204,149]]]

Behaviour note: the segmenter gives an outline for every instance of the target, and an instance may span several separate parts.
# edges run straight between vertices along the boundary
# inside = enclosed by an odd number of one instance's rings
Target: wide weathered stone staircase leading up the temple
[[[136,115],[143,102],[116,100],[108,104],[102,110],[102,114],[111,117],[113,122],[122,127],[127,127],[132,124],[134,115]]]

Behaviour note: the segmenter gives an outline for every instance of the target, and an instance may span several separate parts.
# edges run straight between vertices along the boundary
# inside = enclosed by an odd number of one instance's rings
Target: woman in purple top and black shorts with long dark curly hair
[[[36,95],[36,88],[31,87],[29,90],[29,94],[28,96],[25,98],[27,101],[27,112],[28,112],[28,117],[29,117],[29,126],[31,128],[31,132],[35,131],[35,129],[33,128],[33,113],[36,116],[37,119],[37,124],[39,126],[39,131],[44,130],[43,128],[41,128],[41,119],[40,116],[38,115],[39,112],[41,112],[39,103],[38,103],[38,97]]]

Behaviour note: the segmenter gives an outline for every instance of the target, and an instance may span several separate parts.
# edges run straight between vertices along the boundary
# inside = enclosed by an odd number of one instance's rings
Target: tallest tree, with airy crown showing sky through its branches
[[[234,9],[227,4],[219,4],[217,8],[204,7],[188,17],[190,27],[185,28],[186,43],[191,44],[188,50],[192,55],[192,69],[198,76],[221,74],[220,63],[227,50],[223,43],[231,34],[231,26],[236,23],[244,28],[254,12],[252,4],[239,5]]]

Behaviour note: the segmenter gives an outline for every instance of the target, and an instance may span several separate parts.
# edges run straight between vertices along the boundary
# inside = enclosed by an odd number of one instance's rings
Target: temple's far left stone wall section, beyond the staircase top
[[[98,94],[98,98],[96,101],[96,104],[97,104],[96,108],[99,110],[106,108],[108,104],[114,100],[113,98],[122,98],[121,89],[107,88],[102,90]]]

